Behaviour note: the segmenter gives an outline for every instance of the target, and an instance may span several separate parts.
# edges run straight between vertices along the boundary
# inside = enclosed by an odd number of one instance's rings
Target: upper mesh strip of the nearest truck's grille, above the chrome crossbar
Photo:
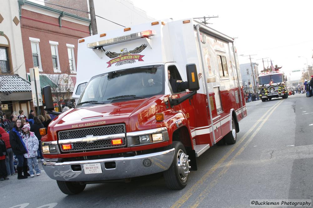
[[[125,133],[124,124],[60,131],[59,140],[84,138],[88,135],[102,136],[118,133]]]

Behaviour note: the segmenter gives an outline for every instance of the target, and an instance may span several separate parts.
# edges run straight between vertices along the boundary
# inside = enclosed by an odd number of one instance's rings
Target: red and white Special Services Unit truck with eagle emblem
[[[193,19],[80,39],[77,77],[88,84],[77,83],[76,107],[42,138],[45,172],[69,195],[159,172],[184,188],[196,157],[236,142],[246,116],[236,56],[233,38]],[[52,110],[49,86],[43,92]]]

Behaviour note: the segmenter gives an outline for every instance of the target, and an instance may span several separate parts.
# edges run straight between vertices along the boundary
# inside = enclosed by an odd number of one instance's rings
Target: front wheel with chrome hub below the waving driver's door
[[[190,160],[188,160],[186,149],[181,142],[173,141],[170,148],[175,148],[175,155],[171,167],[163,172],[163,176],[169,189],[180,190],[187,185],[191,168]],[[183,165],[184,163],[185,165]],[[186,169],[183,170],[183,167]]]

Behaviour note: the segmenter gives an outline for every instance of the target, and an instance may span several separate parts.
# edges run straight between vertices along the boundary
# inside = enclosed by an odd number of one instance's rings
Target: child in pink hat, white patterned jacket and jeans
[[[36,171],[36,176],[40,176],[41,171],[39,169],[37,161],[37,150],[39,146],[38,139],[35,136],[35,134],[30,131],[29,123],[24,124],[22,131],[23,131],[22,139],[27,148],[27,153],[24,154],[24,157],[27,158],[30,177],[34,177],[33,163]]]

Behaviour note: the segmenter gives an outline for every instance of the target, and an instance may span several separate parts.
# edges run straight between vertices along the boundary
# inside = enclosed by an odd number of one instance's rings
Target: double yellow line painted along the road
[[[206,188],[199,194],[195,203],[191,207],[197,207],[203,201],[203,199],[208,195],[209,189],[215,186],[218,183],[218,180],[228,171],[229,167],[233,163],[234,159],[239,156],[244,148],[251,142],[254,136],[259,132],[264,123],[269,119],[269,116],[275,111],[275,109],[283,102],[284,99],[280,100],[275,106],[272,106],[268,109],[263,116],[247,131],[244,136],[236,142],[236,144],[206,173],[201,177],[186,193],[181,196],[171,207],[180,207],[182,206],[200,187],[203,187],[203,183],[208,179],[213,172],[215,172],[219,167],[221,167],[222,163],[230,156],[231,153],[248,137],[248,135],[254,130],[255,127],[261,123],[258,128],[254,131],[254,133],[249,137],[247,142],[239,149],[239,151],[233,156],[233,158],[226,164],[223,170],[218,174],[218,176],[206,186]],[[268,114],[269,113],[269,114]],[[268,114],[268,115],[267,115]],[[267,115],[267,116],[266,116]],[[266,117],[264,119],[264,117]]]

